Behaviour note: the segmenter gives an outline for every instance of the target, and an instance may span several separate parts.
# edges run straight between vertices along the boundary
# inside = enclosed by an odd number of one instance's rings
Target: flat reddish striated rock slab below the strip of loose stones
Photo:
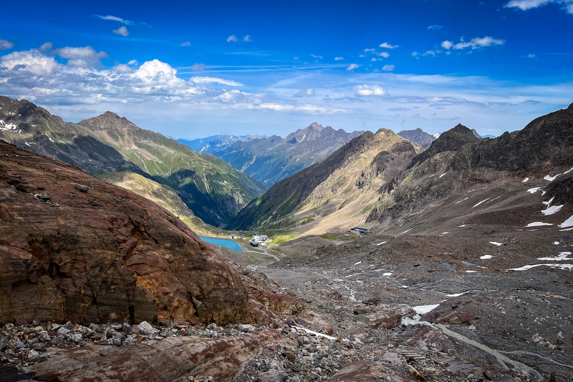
[[[183,382],[190,375],[208,375],[223,382],[270,345],[293,347],[296,342],[265,329],[248,337],[167,337],[140,346],[48,348],[48,361],[32,365],[26,374],[41,381]]]

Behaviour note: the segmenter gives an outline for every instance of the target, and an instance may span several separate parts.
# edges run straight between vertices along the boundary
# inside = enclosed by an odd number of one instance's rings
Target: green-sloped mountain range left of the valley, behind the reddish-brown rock
[[[209,154],[199,153],[112,112],[66,123],[29,101],[0,97],[0,138],[74,164],[91,174],[132,171],[171,187],[193,214],[229,222],[265,187]]]

